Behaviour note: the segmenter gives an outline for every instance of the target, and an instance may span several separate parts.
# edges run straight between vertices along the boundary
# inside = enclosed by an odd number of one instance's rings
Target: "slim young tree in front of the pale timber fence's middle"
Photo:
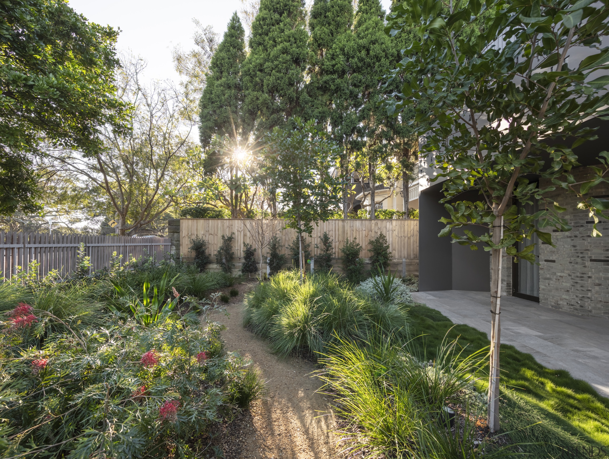
[[[335,176],[340,147],[315,126],[296,117],[294,127],[274,128],[264,146],[265,172],[281,190],[286,227],[298,233],[300,276],[303,277],[303,234],[313,223],[329,220],[339,208],[342,178]]]

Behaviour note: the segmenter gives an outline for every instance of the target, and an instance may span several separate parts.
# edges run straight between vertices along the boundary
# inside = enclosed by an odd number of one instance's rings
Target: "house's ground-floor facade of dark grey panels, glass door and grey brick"
[[[598,139],[585,142],[574,149],[582,167],[572,170],[577,181],[586,180],[590,166],[597,166],[599,152],[607,150],[609,122],[597,119],[586,122],[597,130]],[[530,180],[535,180],[531,177]],[[540,186],[551,183],[540,181]],[[590,192],[597,198],[609,198],[609,186],[600,184]],[[566,212],[561,217],[568,221],[571,231],[540,228],[552,232],[556,247],[541,243],[537,237],[523,245],[535,242],[533,250],[536,264],[527,261],[515,263],[504,253],[502,262],[502,295],[519,296],[538,302],[540,307],[553,307],[568,312],[593,317],[609,318],[609,222],[601,220],[597,225],[601,237],[591,236],[593,219],[588,212],[577,209],[577,196],[560,187],[547,194],[547,199],[557,202]],[[490,292],[490,252],[470,250],[467,246],[451,244],[450,237],[438,237],[449,218],[444,205],[442,183],[432,183],[421,191],[419,197],[419,289],[473,290]],[[455,200],[479,200],[477,192],[465,192]],[[539,207],[539,205],[537,205]],[[527,209],[535,211],[536,209]],[[475,227],[468,228],[476,233]],[[459,231],[459,230],[457,230]],[[479,234],[481,234],[479,233]]]

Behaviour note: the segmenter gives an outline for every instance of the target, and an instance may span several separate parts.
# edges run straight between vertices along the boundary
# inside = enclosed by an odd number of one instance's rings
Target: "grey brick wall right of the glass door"
[[[586,180],[588,167],[574,170],[577,181]],[[540,183],[548,186],[550,183]],[[597,186],[593,196],[609,195],[609,186]],[[547,194],[567,209],[561,216],[568,220],[572,230],[552,233],[557,246],[540,247],[540,304],[541,306],[574,312],[581,315],[609,318],[609,222],[601,220],[597,228],[602,237],[592,237],[592,219],[588,212],[577,209],[577,197],[557,188]]]

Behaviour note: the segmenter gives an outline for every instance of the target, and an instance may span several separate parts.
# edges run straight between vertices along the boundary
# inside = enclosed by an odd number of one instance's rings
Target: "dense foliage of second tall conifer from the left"
[[[260,138],[305,115],[308,33],[301,0],[261,0],[252,24],[250,54],[242,68],[248,113]]]

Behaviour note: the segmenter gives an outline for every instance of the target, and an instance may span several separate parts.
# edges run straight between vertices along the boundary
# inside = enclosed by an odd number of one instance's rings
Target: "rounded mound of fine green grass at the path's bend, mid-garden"
[[[245,296],[244,325],[270,340],[280,355],[325,352],[340,338],[406,339],[406,311],[359,296],[334,273],[280,272]]]

